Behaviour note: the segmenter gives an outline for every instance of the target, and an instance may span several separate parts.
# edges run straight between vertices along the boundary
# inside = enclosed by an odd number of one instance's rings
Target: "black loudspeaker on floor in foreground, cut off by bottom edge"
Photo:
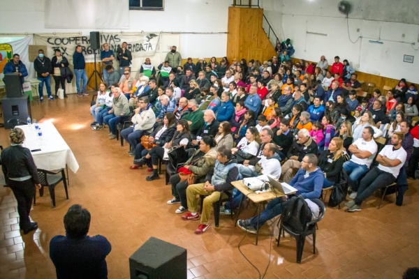
[[[150,237],[129,257],[131,279],[186,279],[186,249]]]

